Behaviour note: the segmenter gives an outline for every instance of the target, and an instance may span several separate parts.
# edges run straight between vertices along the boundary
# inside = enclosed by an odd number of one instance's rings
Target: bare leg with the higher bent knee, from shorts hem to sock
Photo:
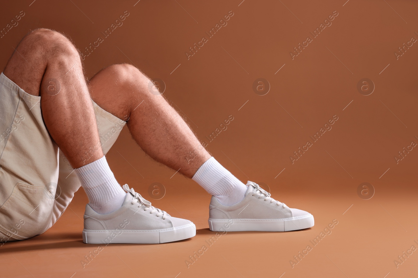
[[[4,75],[26,93],[41,96],[46,128],[73,168],[103,157],[80,56],[64,35],[32,31],[15,49]]]

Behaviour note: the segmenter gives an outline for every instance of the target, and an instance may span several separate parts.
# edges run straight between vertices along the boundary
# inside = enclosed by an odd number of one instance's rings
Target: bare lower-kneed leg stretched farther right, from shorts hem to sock
[[[101,108],[127,121],[145,153],[191,178],[211,155],[150,82],[132,65],[112,65],[89,81],[89,89]]]

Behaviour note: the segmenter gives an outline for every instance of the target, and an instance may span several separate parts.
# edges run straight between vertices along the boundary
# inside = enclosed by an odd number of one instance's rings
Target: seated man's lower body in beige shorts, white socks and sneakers
[[[125,124],[151,158],[212,195],[210,230],[314,225],[310,213],[288,208],[222,167],[150,84],[127,64],[86,82],[79,52],[53,30],[21,40],[0,75],[0,244],[45,232],[80,186],[89,198],[85,243],[165,243],[196,235],[191,221],[155,208],[115,179],[104,155]]]

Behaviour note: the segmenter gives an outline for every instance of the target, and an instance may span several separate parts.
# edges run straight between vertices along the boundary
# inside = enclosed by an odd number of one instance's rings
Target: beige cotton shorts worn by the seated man
[[[93,102],[106,154],[125,121]],[[86,153],[88,156],[88,153]],[[80,181],[46,130],[41,97],[0,75],[0,245],[45,232],[64,213]]]

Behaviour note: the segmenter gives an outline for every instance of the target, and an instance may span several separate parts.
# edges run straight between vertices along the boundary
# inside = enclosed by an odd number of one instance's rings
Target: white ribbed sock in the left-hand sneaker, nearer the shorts
[[[75,170],[89,198],[92,209],[100,214],[111,213],[122,206],[126,192],[116,181],[106,157]]]

